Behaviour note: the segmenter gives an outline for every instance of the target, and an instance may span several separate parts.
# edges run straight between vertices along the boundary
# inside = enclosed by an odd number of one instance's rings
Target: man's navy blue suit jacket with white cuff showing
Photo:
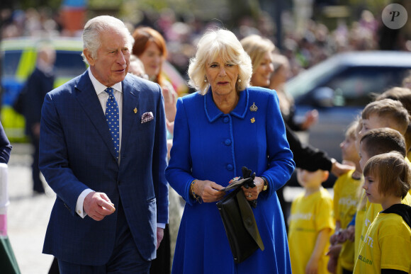
[[[74,212],[86,188],[121,200],[145,260],[155,258],[157,222],[168,222],[164,102],[157,84],[131,74],[123,86],[120,164],[89,72],[47,93],[40,132],[40,170],[57,193],[43,253],[62,261],[103,265],[113,254],[117,211],[97,222]],[[142,123],[143,113],[153,120]],[[119,221],[120,222],[120,221]]]

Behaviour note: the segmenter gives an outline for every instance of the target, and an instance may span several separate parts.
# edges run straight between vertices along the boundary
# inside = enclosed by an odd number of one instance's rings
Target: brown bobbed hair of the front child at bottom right
[[[378,193],[405,198],[410,190],[411,169],[404,156],[388,152],[372,156],[364,167],[364,176],[378,180]]]

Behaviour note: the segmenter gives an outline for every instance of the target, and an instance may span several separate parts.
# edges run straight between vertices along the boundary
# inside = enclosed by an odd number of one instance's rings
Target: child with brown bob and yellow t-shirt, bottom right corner
[[[411,168],[402,154],[371,157],[364,167],[369,202],[383,208],[361,239],[354,273],[411,273],[411,207],[401,200],[411,188]]]

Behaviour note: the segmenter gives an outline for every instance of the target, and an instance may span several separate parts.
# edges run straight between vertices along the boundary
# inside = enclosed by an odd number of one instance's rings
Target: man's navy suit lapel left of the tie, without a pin
[[[94,86],[91,83],[89,72],[84,72],[81,75],[77,86],[77,101],[83,108],[86,115],[89,117],[91,123],[96,127],[98,134],[103,139],[103,142],[106,144],[114,159],[116,159],[116,152],[114,151],[113,141],[111,140],[111,134],[108,130],[108,125],[106,117],[104,116],[103,109],[101,108],[100,101]],[[124,128],[124,127],[123,127]]]

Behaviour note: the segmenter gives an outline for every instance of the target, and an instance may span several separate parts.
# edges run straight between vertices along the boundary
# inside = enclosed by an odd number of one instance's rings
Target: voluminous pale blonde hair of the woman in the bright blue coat
[[[221,57],[224,62],[239,67],[239,79],[236,90],[243,91],[249,86],[252,76],[252,62],[247,52],[244,51],[240,41],[230,30],[207,30],[197,45],[196,56],[190,59],[188,65],[188,84],[199,93],[205,95],[210,87],[205,80],[205,67],[216,57]]]

